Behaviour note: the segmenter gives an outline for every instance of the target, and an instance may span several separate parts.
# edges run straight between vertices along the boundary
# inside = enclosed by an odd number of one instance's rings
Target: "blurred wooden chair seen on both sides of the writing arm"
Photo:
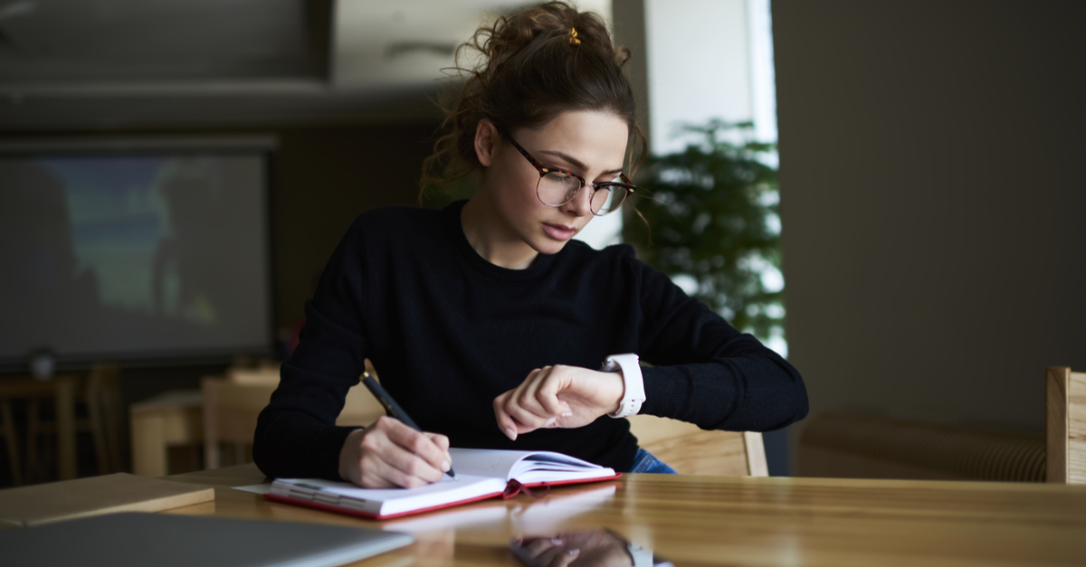
[[[224,445],[232,449],[233,464],[252,462],[256,418],[278,386],[278,366],[231,369],[225,377],[205,377],[201,381],[205,468],[222,466]],[[369,425],[382,415],[384,408],[358,382],[348,392],[336,425]]]

